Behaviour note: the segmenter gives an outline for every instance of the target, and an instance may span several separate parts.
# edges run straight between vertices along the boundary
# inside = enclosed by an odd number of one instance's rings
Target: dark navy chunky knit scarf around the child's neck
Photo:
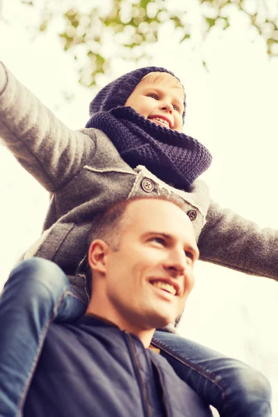
[[[131,167],[145,165],[165,183],[189,191],[211,165],[211,153],[196,139],[140,116],[123,106],[92,115],[87,128],[104,131]]]

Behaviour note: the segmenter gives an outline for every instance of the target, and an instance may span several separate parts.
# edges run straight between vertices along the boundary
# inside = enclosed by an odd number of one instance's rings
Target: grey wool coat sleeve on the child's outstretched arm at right
[[[278,280],[278,231],[261,229],[215,202],[208,208],[198,246],[203,261]]]

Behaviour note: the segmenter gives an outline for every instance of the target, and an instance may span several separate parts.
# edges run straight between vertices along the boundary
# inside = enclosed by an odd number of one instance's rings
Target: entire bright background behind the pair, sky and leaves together
[[[0,60],[71,129],[97,90],[145,65],[186,88],[184,133],[213,163],[211,196],[260,227],[277,219],[277,0],[0,0]],[[47,192],[0,145],[0,287],[38,238]],[[278,417],[278,285],[199,262],[181,334],[261,370]]]

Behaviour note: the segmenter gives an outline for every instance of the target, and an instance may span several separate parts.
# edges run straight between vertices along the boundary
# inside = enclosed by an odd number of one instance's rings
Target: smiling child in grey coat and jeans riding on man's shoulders
[[[185,107],[174,74],[145,67],[106,85],[90,104],[86,129],[74,132],[0,65],[0,136],[51,193],[44,233],[24,255],[36,258],[15,268],[0,301],[0,415],[22,411],[51,320],[85,311],[86,235],[96,213],[113,202],[171,195],[193,222],[201,259],[277,278],[277,232],[221,210],[195,181],[211,155],[181,133]],[[244,363],[167,332],[156,332],[154,345],[221,416],[270,416],[269,384]]]

